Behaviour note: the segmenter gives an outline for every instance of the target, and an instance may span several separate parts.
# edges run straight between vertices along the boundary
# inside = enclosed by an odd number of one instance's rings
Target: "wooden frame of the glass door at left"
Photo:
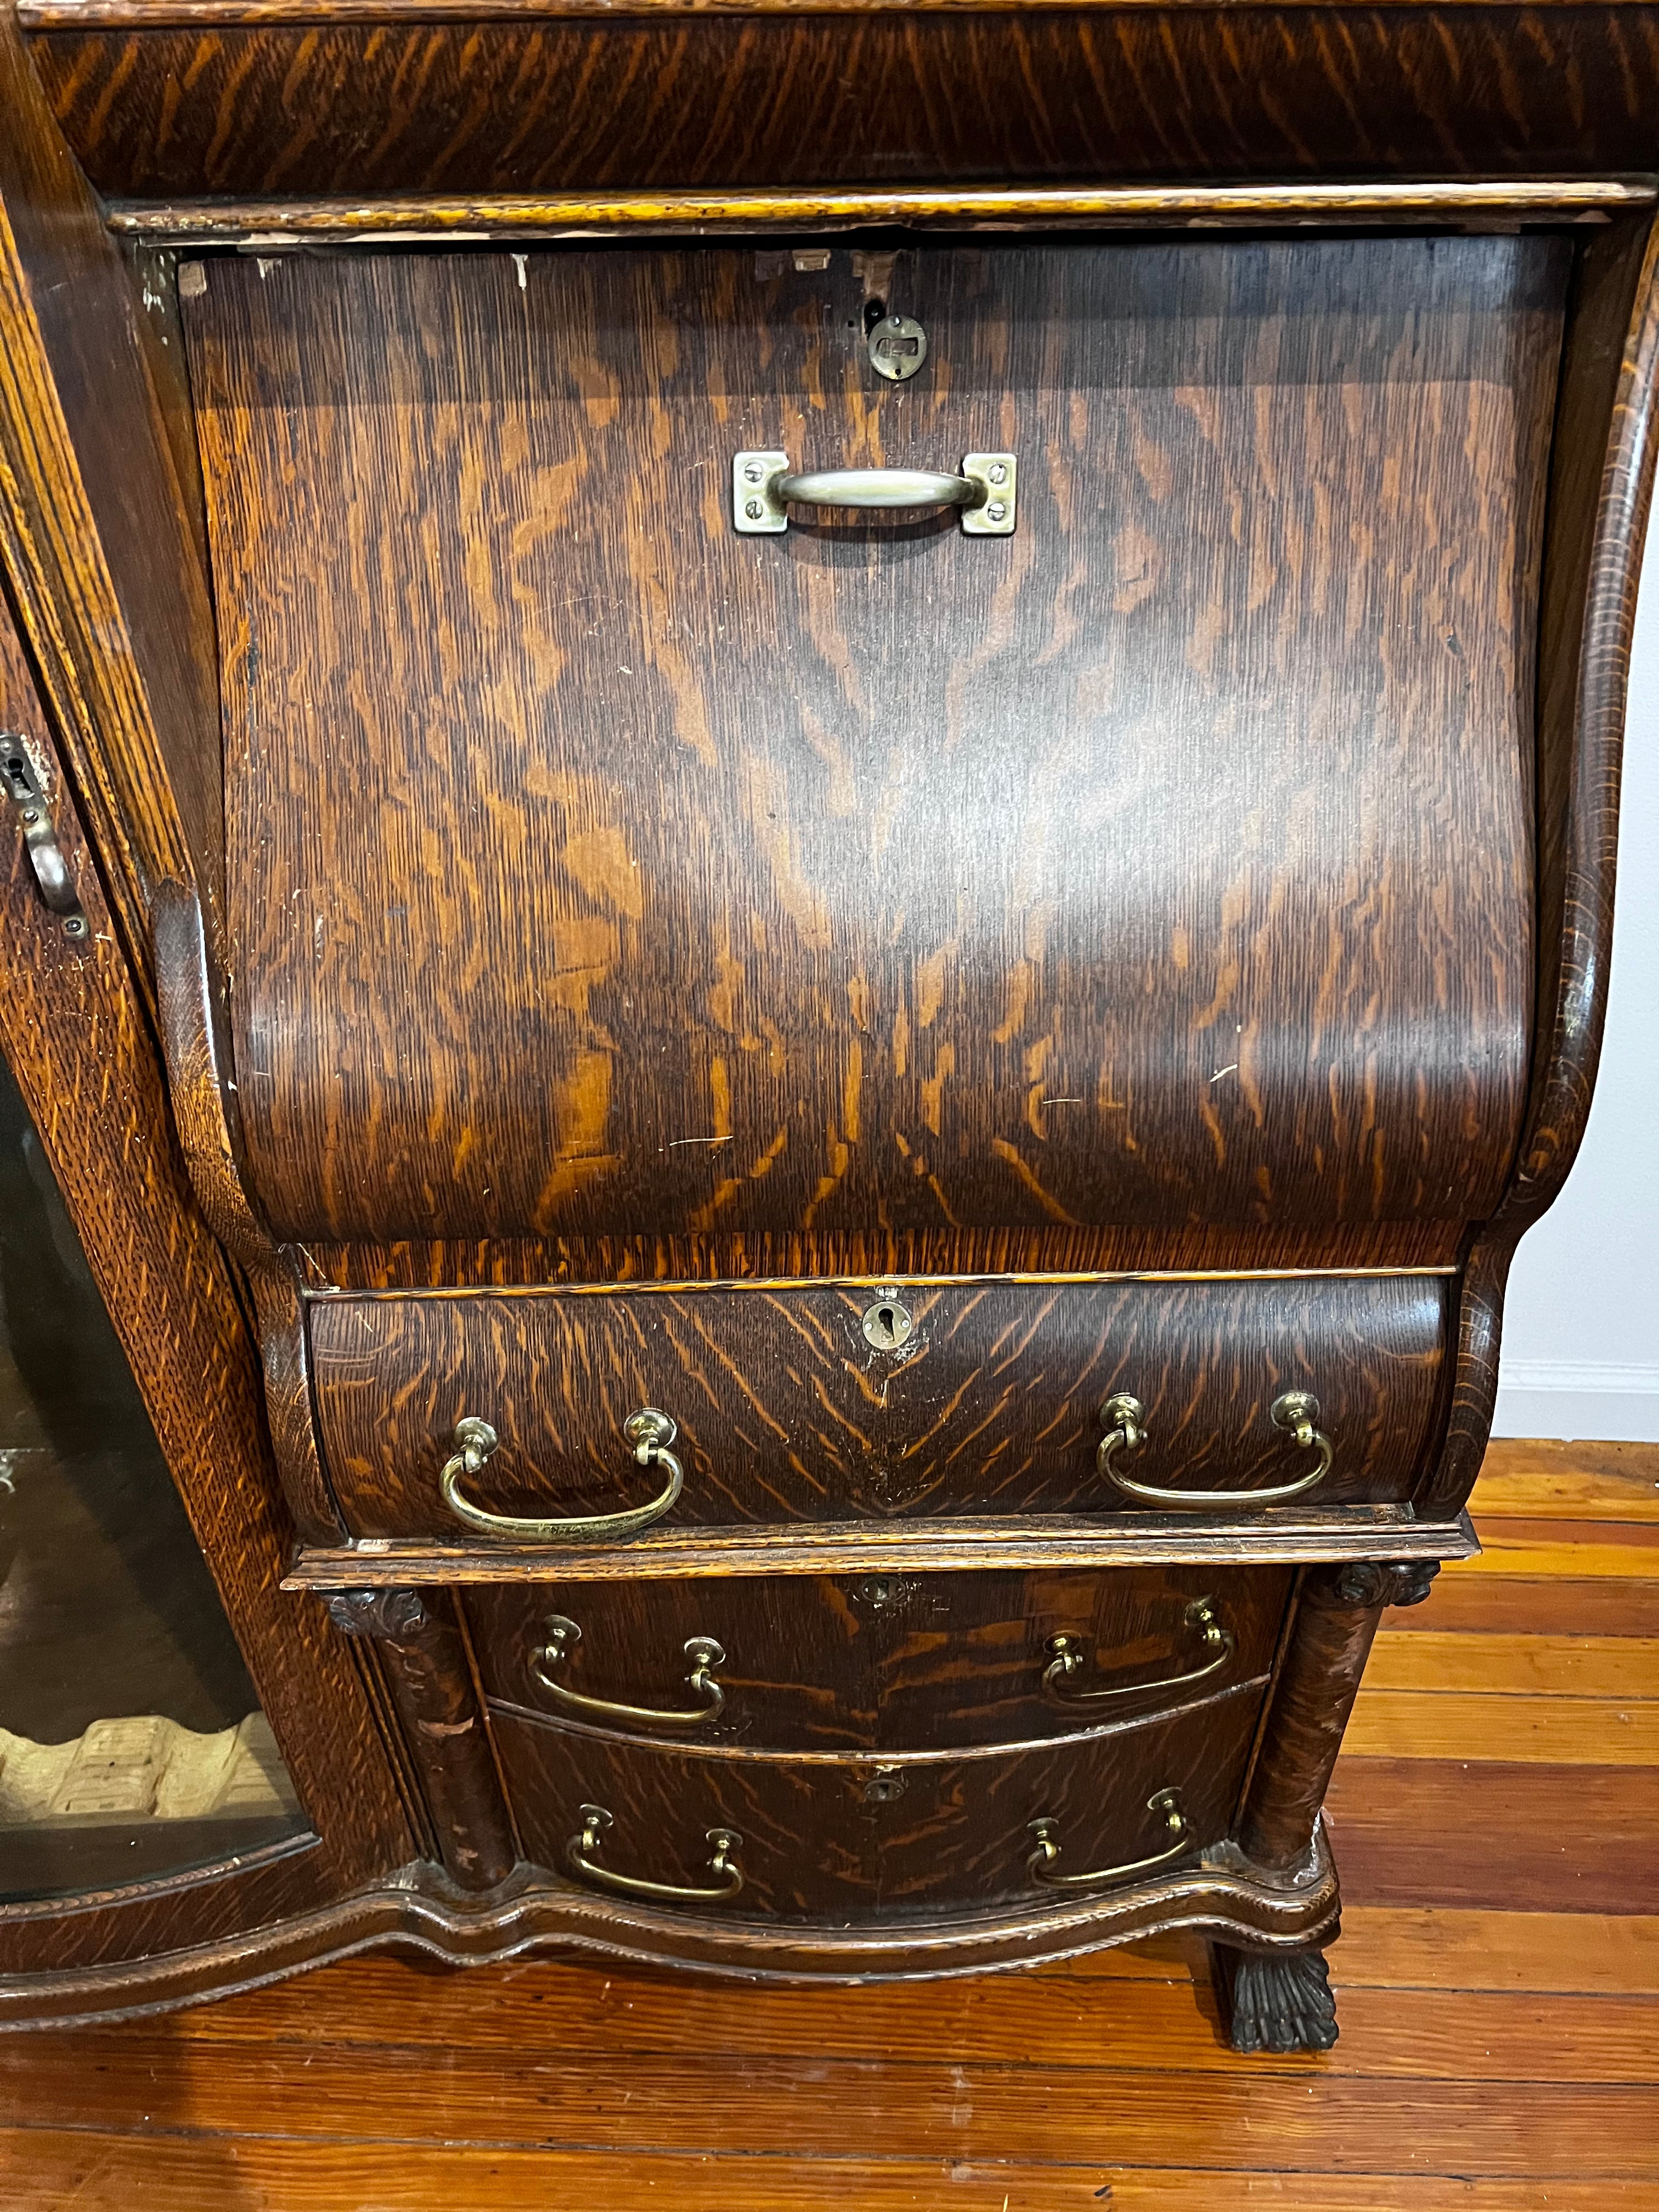
[[[296,1604],[279,1588],[292,1526],[261,1420],[252,1336],[226,1259],[192,1203],[155,1042],[2,604],[0,728],[27,739],[91,925],[75,945],[46,911],[7,803],[0,1051],[321,1838],[261,1854],[243,1874],[206,1869],[108,1898],[9,1907],[0,1913],[0,1973],[20,1973],[234,1940],[389,1871],[411,1845],[349,1655],[316,1599]]]

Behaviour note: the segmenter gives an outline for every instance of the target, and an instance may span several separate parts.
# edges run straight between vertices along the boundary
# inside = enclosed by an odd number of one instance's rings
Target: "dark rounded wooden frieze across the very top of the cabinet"
[[[1644,4],[398,13],[60,11],[33,55],[128,197],[1655,168]]]

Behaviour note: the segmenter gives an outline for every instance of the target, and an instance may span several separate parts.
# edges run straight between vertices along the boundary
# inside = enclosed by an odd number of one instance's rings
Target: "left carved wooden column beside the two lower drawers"
[[[449,1876],[462,1889],[493,1889],[518,1854],[447,1599],[427,1601],[420,1590],[336,1590],[327,1610],[345,1635],[380,1644]]]

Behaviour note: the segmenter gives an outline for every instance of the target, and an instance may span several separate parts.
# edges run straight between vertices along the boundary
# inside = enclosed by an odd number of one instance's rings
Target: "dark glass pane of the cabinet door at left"
[[[0,1057],[0,1902],[307,1834]]]

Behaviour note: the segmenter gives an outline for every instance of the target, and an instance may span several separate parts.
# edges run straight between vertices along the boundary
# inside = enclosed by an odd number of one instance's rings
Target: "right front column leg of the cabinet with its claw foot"
[[[1305,1571],[1239,1823],[1239,1845],[1256,1867],[1294,1874],[1307,1858],[1378,1621],[1387,1606],[1420,1606],[1438,1573],[1438,1559]],[[1234,2051],[1329,2051],[1336,2042],[1323,1951],[1214,1944],[1214,1969]]]

